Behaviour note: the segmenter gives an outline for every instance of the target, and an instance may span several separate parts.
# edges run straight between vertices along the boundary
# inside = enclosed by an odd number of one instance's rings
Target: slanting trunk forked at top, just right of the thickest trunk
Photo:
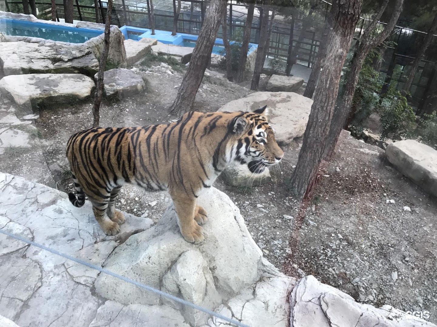
[[[358,76],[360,75],[364,59],[371,49],[375,48],[378,44],[381,44],[388,37],[388,35],[395,27],[399,15],[402,12],[402,5],[404,0],[396,0],[394,7],[395,9],[392,12],[392,16],[390,17],[388,24],[385,25],[385,28],[381,33],[377,34],[377,36],[374,37],[373,34],[375,32],[376,24],[378,23],[379,18],[381,18],[382,14],[384,13],[388,1],[389,0],[384,1],[378,14],[376,14],[371,24],[364,31],[362,40],[358,45],[357,52],[350,67],[350,73],[347,78],[347,84],[345,86],[343,97],[340,100],[329,129],[328,143],[326,144],[324,154],[324,158],[326,160],[329,160],[329,158],[332,156],[338,137],[340,136],[341,129],[343,129],[343,127],[345,126],[346,121],[350,122],[353,119],[354,113],[349,115],[349,110],[352,104],[352,100],[354,99],[355,89],[357,88],[358,84]]]

